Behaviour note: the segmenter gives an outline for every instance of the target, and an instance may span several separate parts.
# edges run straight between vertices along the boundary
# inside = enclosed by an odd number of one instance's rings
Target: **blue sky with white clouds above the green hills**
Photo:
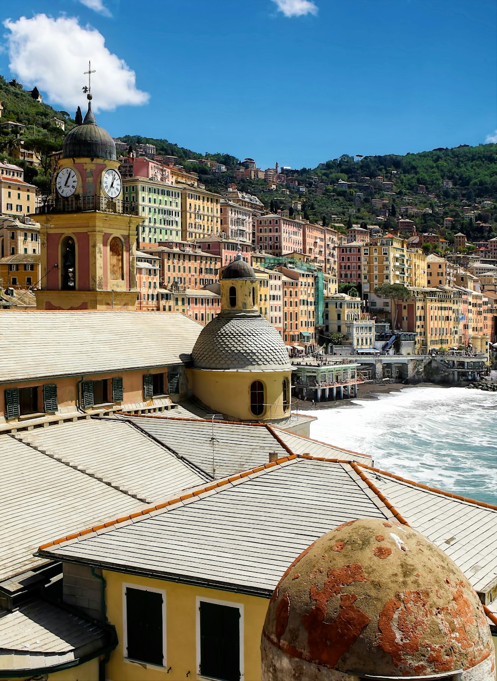
[[[0,72],[112,136],[314,167],[497,141],[495,0],[22,0]]]

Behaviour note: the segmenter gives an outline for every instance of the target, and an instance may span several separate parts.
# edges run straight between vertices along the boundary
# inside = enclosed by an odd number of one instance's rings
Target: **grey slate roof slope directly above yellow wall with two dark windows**
[[[356,518],[393,515],[349,464],[291,458],[42,553],[269,596],[310,543]]]

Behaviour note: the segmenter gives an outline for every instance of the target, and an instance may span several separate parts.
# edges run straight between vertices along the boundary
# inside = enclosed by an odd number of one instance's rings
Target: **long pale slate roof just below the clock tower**
[[[0,383],[181,364],[200,323],[179,313],[1,312]],[[95,348],[99,351],[95,352]]]

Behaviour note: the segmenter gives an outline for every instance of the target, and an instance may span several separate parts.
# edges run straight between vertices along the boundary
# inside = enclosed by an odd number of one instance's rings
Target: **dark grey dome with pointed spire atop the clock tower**
[[[62,158],[117,160],[116,143],[106,130],[98,127],[91,110],[91,101],[88,102],[88,112],[82,125],[76,125],[65,136],[62,144]]]

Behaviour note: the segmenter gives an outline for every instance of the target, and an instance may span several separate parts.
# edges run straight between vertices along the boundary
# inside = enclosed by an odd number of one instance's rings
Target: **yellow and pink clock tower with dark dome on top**
[[[136,307],[137,206],[123,200],[116,145],[91,110],[64,138],[40,222],[42,310]]]

